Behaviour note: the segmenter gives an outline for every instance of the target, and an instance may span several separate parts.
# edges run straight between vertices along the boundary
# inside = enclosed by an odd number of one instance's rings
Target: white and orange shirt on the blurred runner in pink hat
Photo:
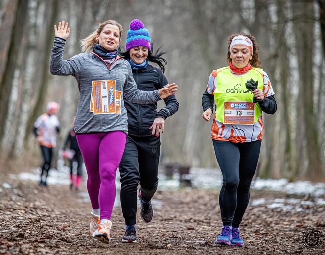
[[[34,127],[37,128],[39,144],[48,148],[55,147],[56,132],[59,126],[60,123],[56,115],[49,116],[45,113],[39,116],[34,123]]]

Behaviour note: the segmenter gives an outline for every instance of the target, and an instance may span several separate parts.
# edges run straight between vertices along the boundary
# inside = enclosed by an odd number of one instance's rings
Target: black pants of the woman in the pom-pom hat
[[[156,136],[127,136],[119,164],[121,207],[126,225],[136,224],[139,182],[144,201],[150,201],[157,190],[159,155],[160,139]]]

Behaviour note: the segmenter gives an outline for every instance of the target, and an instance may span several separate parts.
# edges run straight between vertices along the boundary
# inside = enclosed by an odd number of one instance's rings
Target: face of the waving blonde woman
[[[100,34],[96,35],[99,45],[107,50],[115,50],[119,46],[120,39],[120,31],[117,25],[105,25]]]

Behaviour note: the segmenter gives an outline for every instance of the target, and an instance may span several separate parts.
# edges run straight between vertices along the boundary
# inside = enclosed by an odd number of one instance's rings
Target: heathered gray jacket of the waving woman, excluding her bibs
[[[116,60],[110,69],[92,53],[80,53],[68,60],[63,60],[66,42],[54,39],[51,52],[50,71],[54,75],[72,75],[78,83],[79,103],[74,123],[76,134],[123,131],[128,132],[127,112],[123,94],[131,102],[148,104],[161,100],[158,90],[142,91],[137,89],[130,64],[124,59]],[[90,111],[92,81],[115,80],[115,90],[122,91],[121,114],[94,115]]]

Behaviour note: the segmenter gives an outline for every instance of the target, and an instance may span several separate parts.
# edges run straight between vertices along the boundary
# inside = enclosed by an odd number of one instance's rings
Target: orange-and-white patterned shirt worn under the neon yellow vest
[[[207,92],[213,95],[217,86],[217,72],[213,71],[210,74]],[[246,73],[235,76],[243,76]],[[270,82],[270,79],[266,72],[263,71],[263,93],[264,97],[274,95],[274,91]],[[258,121],[254,125],[235,125],[235,124],[223,124],[219,122],[216,117],[213,118],[213,124],[211,128],[211,138],[219,141],[231,141],[231,142],[252,142],[261,140],[263,138],[263,117],[260,116]]]

